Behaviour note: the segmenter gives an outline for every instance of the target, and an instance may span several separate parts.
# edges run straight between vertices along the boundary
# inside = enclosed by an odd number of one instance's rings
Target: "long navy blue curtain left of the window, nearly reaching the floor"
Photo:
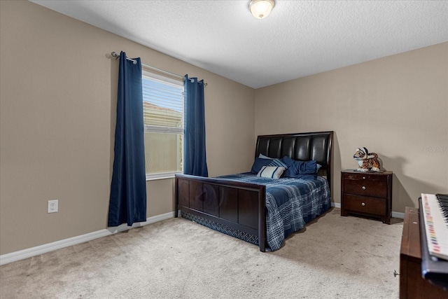
[[[120,53],[109,226],[146,221],[146,171],[140,58]]]

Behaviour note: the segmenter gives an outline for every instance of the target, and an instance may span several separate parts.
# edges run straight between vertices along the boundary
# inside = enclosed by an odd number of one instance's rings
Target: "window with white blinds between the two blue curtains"
[[[143,71],[146,179],[182,172],[183,81]]]

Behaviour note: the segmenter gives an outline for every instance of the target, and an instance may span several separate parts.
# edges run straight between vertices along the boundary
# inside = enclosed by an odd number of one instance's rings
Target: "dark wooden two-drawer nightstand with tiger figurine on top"
[[[392,172],[341,172],[341,216],[358,214],[391,224]]]

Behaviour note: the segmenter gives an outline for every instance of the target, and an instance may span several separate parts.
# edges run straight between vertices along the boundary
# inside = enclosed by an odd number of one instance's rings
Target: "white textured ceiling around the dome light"
[[[448,1],[32,2],[252,88],[448,41]]]

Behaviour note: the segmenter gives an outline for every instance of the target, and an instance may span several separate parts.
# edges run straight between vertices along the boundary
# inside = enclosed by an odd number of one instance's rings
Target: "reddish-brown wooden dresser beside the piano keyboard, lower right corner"
[[[406,207],[400,249],[400,299],[447,299],[448,291],[421,277],[419,209]]]

